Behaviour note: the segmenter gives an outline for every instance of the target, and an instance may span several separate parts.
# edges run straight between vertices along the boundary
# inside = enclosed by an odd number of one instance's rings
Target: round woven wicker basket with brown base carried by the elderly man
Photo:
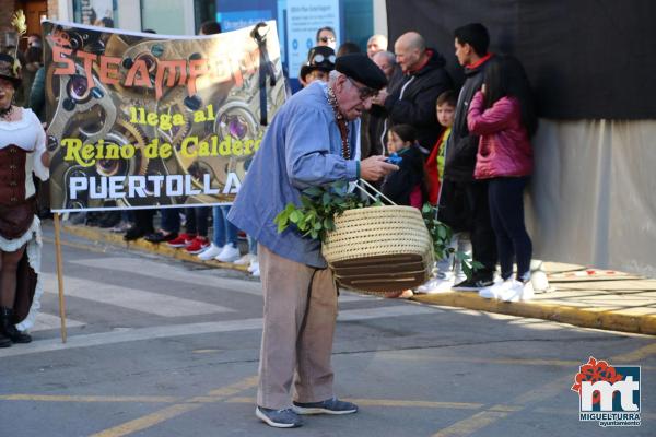
[[[423,284],[433,268],[433,244],[419,210],[370,206],[335,217],[321,247],[338,282],[370,293]]]

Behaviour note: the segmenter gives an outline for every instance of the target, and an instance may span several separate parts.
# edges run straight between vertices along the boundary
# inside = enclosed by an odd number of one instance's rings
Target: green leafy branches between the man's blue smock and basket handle
[[[303,236],[324,241],[326,234],[335,229],[336,215],[355,208],[380,205],[379,201],[370,203],[359,194],[349,192],[349,182],[340,180],[303,190],[301,205],[288,203],[273,222],[279,233],[294,225]]]

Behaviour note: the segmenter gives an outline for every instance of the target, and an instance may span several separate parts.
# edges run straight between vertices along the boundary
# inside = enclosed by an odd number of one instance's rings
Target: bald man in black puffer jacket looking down
[[[424,38],[417,32],[399,36],[394,51],[403,71],[403,81],[396,90],[378,93],[374,104],[385,106],[388,122],[417,129],[419,144],[430,152],[442,132],[435,122],[435,101],[453,87],[444,68],[446,61],[436,50],[426,48]]]

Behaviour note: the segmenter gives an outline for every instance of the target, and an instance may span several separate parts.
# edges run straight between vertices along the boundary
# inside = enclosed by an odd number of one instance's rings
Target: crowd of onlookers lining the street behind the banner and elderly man
[[[201,34],[221,32],[215,22],[203,26]],[[479,265],[466,277],[453,257],[442,260],[418,292],[468,290],[514,302],[532,296],[523,191],[532,172],[530,137],[537,118],[522,64],[512,56],[489,52],[489,43],[479,23],[455,29],[453,48],[430,47],[422,35],[408,32],[388,49],[386,36],[373,35],[366,55],[384,72],[387,86],[367,102],[361,117],[360,158],[400,158],[399,170],[377,188],[397,204],[437,206],[438,218],[455,232],[453,247],[471,253]],[[452,50],[466,78],[459,88],[446,70],[444,55]],[[319,28],[297,74],[301,86],[328,82],[336,59],[359,51],[350,42],[337,47],[335,31]],[[38,66],[31,69],[38,71]],[[159,229],[153,227],[154,210],[89,213],[77,220],[125,233],[128,241],[144,238],[201,260],[249,264],[258,275],[257,244],[249,239],[248,251],[241,253],[238,229],[225,218],[229,208],[162,209]]]

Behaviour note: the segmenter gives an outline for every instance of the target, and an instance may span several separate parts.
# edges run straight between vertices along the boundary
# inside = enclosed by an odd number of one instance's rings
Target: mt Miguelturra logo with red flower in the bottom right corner
[[[578,420],[599,426],[640,426],[640,366],[611,366],[590,356],[578,367]]]

